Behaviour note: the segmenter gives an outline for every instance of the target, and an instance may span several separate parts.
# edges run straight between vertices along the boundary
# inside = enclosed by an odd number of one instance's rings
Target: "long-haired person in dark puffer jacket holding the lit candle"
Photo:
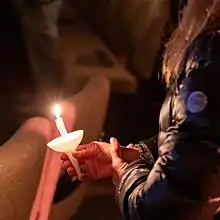
[[[211,220],[220,209],[219,17],[220,0],[189,0],[183,10],[164,55],[169,89],[158,137],[128,148],[113,138],[73,153],[81,180],[114,177],[125,219]]]

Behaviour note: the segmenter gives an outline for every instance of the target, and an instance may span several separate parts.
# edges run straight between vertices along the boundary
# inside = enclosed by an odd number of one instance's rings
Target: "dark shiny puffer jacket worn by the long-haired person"
[[[220,31],[191,43],[161,109],[157,147],[153,166],[140,159],[120,174],[116,199],[125,219],[213,219],[220,205]]]

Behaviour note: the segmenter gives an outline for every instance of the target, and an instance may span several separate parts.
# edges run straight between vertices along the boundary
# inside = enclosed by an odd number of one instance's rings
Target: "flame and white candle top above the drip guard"
[[[56,127],[58,129],[58,131],[60,132],[61,136],[65,136],[67,135],[67,130],[63,121],[63,118],[61,117],[61,106],[58,104],[55,104],[53,107],[53,113],[56,117],[55,123],[56,123]]]

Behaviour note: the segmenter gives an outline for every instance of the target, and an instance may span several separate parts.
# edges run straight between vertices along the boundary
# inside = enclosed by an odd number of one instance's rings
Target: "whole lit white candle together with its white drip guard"
[[[56,104],[53,108],[53,113],[56,117],[56,127],[61,136],[49,142],[47,146],[54,151],[66,153],[79,175],[81,173],[79,163],[77,159],[72,156],[72,152],[77,149],[78,145],[82,141],[84,132],[83,130],[78,130],[68,133],[61,117],[61,110],[61,106],[58,104]]]

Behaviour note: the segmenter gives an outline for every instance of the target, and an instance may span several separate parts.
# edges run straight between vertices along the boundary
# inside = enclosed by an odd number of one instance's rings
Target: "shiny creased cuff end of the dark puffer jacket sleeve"
[[[130,163],[119,174],[116,183],[116,203],[121,213],[126,217],[128,213],[128,198],[133,190],[145,182],[150,172],[146,160],[137,160]]]

